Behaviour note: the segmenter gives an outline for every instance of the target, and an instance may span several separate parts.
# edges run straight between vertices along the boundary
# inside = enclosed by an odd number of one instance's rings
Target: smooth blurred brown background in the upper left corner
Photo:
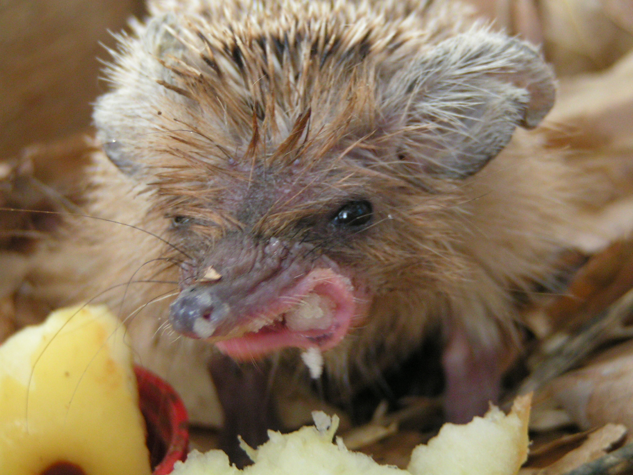
[[[0,156],[90,124],[91,103],[115,46],[111,32],[144,15],[142,0],[0,2]]]

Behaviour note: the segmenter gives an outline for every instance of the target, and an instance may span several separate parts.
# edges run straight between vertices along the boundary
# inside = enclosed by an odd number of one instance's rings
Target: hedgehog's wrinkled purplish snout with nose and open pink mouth
[[[367,316],[362,279],[326,256],[306,259],[306,244],[237,244],[217,244],[222,260],[184,275],[188,285],[170,308],[176,331],[242,360],[288,347],[329,350]]]

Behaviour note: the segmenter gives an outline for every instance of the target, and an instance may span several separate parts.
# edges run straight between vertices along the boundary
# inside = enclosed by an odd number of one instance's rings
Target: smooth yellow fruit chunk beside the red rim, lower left
[[[124,338],[105,307],[77,307],[0,346],[0,473],[151,473]]]

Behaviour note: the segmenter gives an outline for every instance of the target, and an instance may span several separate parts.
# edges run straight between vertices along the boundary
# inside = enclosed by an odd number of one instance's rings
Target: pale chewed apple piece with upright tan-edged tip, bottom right
[[[468,424],[444,424],[427,445],[413,449],[413,475],[515,475],[527,459],[531,395],[510,414],[491,407]]]

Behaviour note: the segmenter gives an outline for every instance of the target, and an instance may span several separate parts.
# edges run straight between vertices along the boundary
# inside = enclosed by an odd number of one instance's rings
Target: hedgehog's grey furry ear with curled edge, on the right
[[[385,114],[407,160],[461,178],[494,158],[517,126],[531,129],[554,103],[553,72],[528,43],[475,31],[456,35],[392,77]]]

